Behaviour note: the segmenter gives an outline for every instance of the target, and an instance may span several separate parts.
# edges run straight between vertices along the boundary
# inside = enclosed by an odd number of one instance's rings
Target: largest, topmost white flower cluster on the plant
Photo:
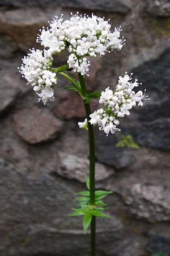
[[[87,57],[96,57],[97,54],[104,55],[105,51],[113,49],[120,50],[125,42],[120,39],[121,27],[110,31],[111,25],[104,18],[92,14],[78,16],[71,13],[70,20],[63,21],[61,18],[54,19],[50,23],[50,28],[43,27],[41,34],[37,37],[37,42],[48,48],[48,56],[60,53],[63,49],[68,49],[70,55],[67,60],[69,68],[74,72],[84,75],[88,72],[90,60]]]

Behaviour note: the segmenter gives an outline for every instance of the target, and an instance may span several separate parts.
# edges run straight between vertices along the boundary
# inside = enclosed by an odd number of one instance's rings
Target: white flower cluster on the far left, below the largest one
[[[32,49],[22,61],[19,72],[33,86],[33,90],[39,96],[38,100],[42,100],[45,104],[53,97],[54,85],[57,84],[56,73],[49,70],[52,67],[53,58],[49,57],[46,51]]]

